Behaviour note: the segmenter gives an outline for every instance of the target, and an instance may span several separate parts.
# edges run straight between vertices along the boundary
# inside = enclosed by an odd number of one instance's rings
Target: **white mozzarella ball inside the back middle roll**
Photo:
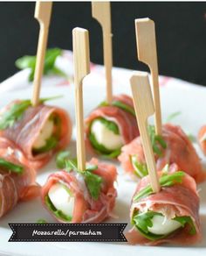
[[[93,121],[91,132],[93,132],[97,142],[108,150],[115,150],[123,145],[123,139],[120,134],[115,134],[109,130],[100,120]]]

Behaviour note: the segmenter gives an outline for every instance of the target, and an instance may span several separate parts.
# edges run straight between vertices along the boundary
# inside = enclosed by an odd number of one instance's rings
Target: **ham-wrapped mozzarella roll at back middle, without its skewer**
[[[87,146],[108,158],[116,158],[138,135],[133,101],[126,95],[114,96],[112,105],[101,103],[86,118]]]

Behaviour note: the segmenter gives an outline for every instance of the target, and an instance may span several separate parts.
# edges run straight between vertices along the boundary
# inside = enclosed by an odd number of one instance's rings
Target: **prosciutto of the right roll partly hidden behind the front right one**
[[[206,174],[203,172],[201,160],[182,128],[173,124],[164,124],[162,126],[162,138],[167,143],[167,148],[162,149],[161,157],[155,155],[157,169],[160,171],[166,164],[176,163],[182,171],[191,175],[196,182],[204,181]],[[131,163],[132,155],[136,155],[139,163],[146,163],[140,137],[123,146],[118,158],[125,172],[134,177],[134,167]]]

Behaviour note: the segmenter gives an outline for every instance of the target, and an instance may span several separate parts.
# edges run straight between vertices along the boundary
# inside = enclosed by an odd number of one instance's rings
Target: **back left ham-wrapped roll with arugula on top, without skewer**
[[[13,141],[25,154],[31,167],[43,167],[52,154],[67,146],[72,124],[65,110],[37,107],[30,100],[14,101],[0,112],[0,135]]]

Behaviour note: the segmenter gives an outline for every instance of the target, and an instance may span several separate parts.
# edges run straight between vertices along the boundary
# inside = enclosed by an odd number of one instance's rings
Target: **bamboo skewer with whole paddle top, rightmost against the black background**
[[[155,108],[155,133],[161,135],[161,103],[154,21],[149,18],[135,19],[135,31],[139,60],[148,65],[152,76]]]

